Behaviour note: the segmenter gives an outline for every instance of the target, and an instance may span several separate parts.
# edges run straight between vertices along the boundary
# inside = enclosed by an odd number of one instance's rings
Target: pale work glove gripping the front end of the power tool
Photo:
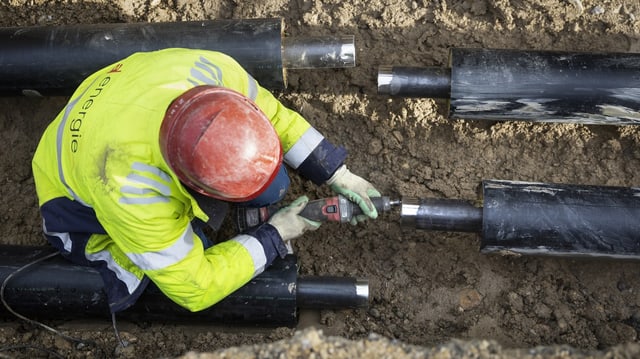
[[[327,184],[331,186],[331,189],[335,192],[357,204],[362,210],[364,215],[354,216],[354,218],[351,219],[351,224],[355,225],[358,222],[365,221],[367,218],[378,218],[378,211],[373,205],[373,202],[371,202],[370,197],[380,197],[380,192],[378,192],[369,181],[351,173],[346,165],[338,168],[333,176],[329,178]]]

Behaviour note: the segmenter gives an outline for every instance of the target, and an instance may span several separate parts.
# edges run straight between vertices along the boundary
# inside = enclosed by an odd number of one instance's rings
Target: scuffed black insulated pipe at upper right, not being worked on
[[[446,68],[380,67],[378,92],[446,99],[452,119],[639,124],[640,54],[453,48]]]

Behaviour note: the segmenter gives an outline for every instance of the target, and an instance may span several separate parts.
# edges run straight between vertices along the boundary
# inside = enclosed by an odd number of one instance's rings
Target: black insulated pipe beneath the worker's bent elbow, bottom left
[[[0,282],[26,264],[55,252],[51,247],[0,246]],[[369,302],[365,279],[297,276],[297,258],[276,259],[262,274],[222,301],[190,312],[150,284],[136,304],[117,313],[132,321],[295,326],[298,309],[357,309]],[[9,307],[33,319],[110,318],[102,278],[61,256],[36,263],[7,281]],[[10,312],[0,305],[0,316]]]

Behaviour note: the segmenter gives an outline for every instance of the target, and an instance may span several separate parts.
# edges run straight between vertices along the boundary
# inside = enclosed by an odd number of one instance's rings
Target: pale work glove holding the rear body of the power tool
[[[312,221],[299,216],[304,207],[309,202],[307,196],[298,197],[290,205],[281,208],[271,218],[268,223],[278,230],[282,241],[284,241],[289,253],[292,253],[291,240],[300,237],[306,231],[315,231],[320,227],[320,222]]]

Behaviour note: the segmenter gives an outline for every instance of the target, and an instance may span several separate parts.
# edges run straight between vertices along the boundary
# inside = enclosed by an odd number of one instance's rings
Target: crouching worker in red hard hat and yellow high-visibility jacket
[[[199,311],[320,225],[298,215],[302,196],[219,243],[198,230],[218,229],[230,204],[281,201],[285,164],[377,217],[371,197],[380,193],[345,158],[231,57],[176,48],[135,53],[86,78],[32,166],[46,238],[99,271],[112,313],[134,304],[149,281]]]

